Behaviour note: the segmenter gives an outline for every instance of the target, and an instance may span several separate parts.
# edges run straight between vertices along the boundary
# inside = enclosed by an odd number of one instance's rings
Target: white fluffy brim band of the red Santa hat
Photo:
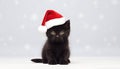
[[[53,27],[53,26],[57,26],[57,25],[62,25],[65,23],[65,18],[56,18],[56,19],[52,19],[46,22],[46,27],[47,29]]]

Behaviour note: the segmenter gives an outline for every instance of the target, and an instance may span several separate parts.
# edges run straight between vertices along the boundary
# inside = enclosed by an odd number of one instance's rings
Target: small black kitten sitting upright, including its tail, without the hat
[[[47,30],[48,37],[43,50],[42,59],[32,59],[36,63],[68,64],[70,63],[69,42],[70,20]]]

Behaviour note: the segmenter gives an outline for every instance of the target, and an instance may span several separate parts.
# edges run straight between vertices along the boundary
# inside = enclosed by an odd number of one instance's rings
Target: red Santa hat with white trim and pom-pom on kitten
[[[61,14],[57,13],[54,10],[47,10],[42,21],[42,24],[39,26],[38,30],[40,32],[46,32],[47,29],[53,26],[62,25],[64,23],[65,18]]]

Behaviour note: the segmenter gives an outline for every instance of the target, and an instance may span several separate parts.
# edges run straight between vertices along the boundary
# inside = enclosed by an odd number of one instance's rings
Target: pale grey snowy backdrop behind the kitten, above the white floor
[[[120,56],[120,0],[0,0],[0,57],[39,57],[45,11],[71,20],[72,56]]]

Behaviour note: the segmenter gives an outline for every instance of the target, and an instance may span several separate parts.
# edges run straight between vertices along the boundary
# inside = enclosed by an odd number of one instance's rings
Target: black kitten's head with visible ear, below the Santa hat
[[[65,42],[70,34],[70,20],[67,20],[64,24],[53,26],[48,29],[46,35],[48,40],[53,43]]]

